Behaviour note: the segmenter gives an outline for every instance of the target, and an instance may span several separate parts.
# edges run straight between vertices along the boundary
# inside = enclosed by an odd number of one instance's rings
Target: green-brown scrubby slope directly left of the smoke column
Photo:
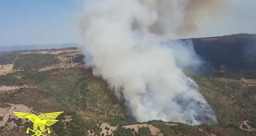
[[[117,102],[114,103],[107,94],[107,85],[100,86],[105,84],[102,79],[93,77],[92,73],[84,75],[83,69],[75,67],[54,74],[53,71],[32,72],[22,79],[40,86],[44,94],[71,108],[97,114],[118,111],[114,107]]]

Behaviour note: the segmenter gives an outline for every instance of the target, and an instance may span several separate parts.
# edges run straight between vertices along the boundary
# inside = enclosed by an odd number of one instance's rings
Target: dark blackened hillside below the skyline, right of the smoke
[[[256,67],[256,35],[192,39],[196,53],[213,66],[228,65],[233,68]]]

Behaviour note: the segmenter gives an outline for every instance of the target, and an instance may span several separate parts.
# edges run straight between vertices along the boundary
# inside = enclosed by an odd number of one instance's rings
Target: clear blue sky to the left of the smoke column
[[[0,45],[77,42],[80,0],[0,0]]]

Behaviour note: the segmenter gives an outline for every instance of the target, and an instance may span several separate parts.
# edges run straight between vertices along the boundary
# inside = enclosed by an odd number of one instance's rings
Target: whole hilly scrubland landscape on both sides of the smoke
[[[26,128],[32,128],[30,121],[18,119],[12,111],[64,111],[47,136],[256,136],[255,40],[249,34],[192,39],[195,51],[209,65],[205,73],[187,75],[218,119],[217,124],[198,126],[126,119],[123,102],[107,82],[92,74],[79,50],[3,52],[0,136],[28,136]]]

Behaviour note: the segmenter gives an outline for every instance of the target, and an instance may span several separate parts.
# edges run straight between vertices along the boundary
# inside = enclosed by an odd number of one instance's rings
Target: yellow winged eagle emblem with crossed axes
[[[17,115],[17,117],[21,119],[27,118],[31,122],[33,122],[33,129],[27,128],[27,131],[26,131],[27,134],[29,134],[29,131],[35,133],[31,136],[45,136],[43,134],[45,131],[47,131],[48,134],[51,134],[49,126],[52,126],[53,124],[55,124],[58,121],[55,118],[58,117],[63,112],[64,111],[53,112],[53,113],[43,113],[37,116],[30,113],[13,111],[13,113]],[[47,126],[46,129],[45,129],[45,126]],[[38,127],[39,127],[39,130],[37,130]]]

